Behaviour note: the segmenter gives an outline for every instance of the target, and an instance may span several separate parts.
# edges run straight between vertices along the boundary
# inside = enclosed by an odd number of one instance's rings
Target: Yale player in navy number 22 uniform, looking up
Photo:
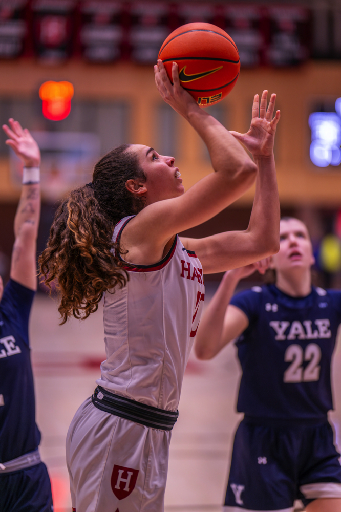
[[[240,279],[267,262],[224,275],[196,339],[200,359],[237,338],[242,367],[226,510],[341,511],[341,466],[327,420],[331,357],[341,322],[341,292],[311,285],[306,226],[283,218],[270,258],[275,284],[232,297]]]

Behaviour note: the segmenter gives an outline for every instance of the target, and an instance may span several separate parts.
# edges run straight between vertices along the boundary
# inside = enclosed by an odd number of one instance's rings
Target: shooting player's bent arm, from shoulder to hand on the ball
[[[203,138],[215,173],[198,181],[180,197],[147,204],[124,228],[122,243],[129,248],[131,256],[138,253],[136,263],[146,264],[152,263],[148,261],[150,254],[158,255],[156,261],[162,257],[165,244],[176,233],[207,221],[236,201],[253,184],[257,174],[257,165],[243,146],[181,87],[176,65],[173,66],[174,84],[161,61],[155,67],[155,79],[163,99]],[[140,184],[136,186],[138,189]],[[147,189],[146,181],[141,190]]]

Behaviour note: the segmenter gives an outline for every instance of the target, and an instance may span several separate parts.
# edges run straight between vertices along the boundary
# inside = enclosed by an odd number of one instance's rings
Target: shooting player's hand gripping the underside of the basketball
[[[154,66],[155,83],[162,99],[183,117],[187,117],[190,108],[199,109],[194,98],[181,86],[176,62],[172,64],[172,79],[169,80],[162,60]]]

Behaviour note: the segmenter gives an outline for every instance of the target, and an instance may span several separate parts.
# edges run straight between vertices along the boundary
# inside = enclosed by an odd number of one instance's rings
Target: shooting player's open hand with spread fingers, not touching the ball
[[[252,119],[249,131],[239,133],[230,131],[230,133],[242,142],[253,157],[268,157],[273,153],[273,142],[276,133],[276,125],[280,120],[281,113],[276,111],[273,116],[276,95],[271,94],[268,109],[266,109],[266,98],[268,92],[263,91],[261,103],[256,94],[253,98]]]

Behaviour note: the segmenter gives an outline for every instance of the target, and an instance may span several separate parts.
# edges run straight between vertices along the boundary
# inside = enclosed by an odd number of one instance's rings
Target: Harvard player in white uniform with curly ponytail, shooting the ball
[[[174,86],[162,61],[155,76],[164,100],[203,138],[216,172],[184,194],[174,158],[144,145],[118,147],[96,164],[91,183],[63,201],[40,259],[46,282],[58,279],[64,321],[81,310],[89,315],[108,290],[106,360],[67,436],[77,512],[163,510],[168,446],[204,300],[203,272],[251,263],[279,245],[274,95],[267,110],[264,91],[260,111],[256,95],[248,134],[235,134],[255,164],[180,86],[175,64]],[[240,197],[256,175],[249,229],[178,238],[178,231]]]

